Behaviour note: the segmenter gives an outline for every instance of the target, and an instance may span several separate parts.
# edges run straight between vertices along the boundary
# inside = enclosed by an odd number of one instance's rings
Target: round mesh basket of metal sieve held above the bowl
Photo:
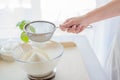
[[[30,40],[45,42],[51,39],[56,28],[57,27],[49,21],[33,21],[25,25],[24,31]]]

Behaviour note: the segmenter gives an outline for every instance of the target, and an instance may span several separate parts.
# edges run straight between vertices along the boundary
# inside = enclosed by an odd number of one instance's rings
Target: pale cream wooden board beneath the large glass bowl
[[[28,80],[17,63],[0,61],[0,80]],[[77,47],[64,48],[54,80],[90,80]]]

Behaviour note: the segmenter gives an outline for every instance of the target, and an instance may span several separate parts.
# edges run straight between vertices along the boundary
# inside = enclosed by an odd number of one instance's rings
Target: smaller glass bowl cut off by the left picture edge
[[[19,44],[20,42],[15,39],[5,39],[0,41],[0,57],[2,60],[6,62],[14,62],[12,51]]]

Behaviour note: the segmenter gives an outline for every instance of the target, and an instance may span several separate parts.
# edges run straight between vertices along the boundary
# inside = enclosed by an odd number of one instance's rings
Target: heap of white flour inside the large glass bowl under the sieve
[[[25,61],[26,63],[23,63],[24,70],[32,76],[35,77],[41,77],[50,74],[54,68],[56,67],[56,64],[58,62],[58,59],[51,60],[56,55],[56,52],[58,52],[57,49],[39,49],[37,47],[30,47],[30,45],[22,45],[22,49],[25,52],[24,55],[21,56],[22,61]]]

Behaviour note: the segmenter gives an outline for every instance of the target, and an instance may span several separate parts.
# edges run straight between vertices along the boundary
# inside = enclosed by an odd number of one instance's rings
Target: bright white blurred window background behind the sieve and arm
[[[67,18],[81,16],[96,8],[96,0],[0,0],[0,38],[18,37],[21,20],[46,20],[59,26]],[[94,31],[80,35],[93,39]],[[56,30],[54,36],[74,35]],[[92,41],[92,40],[91,40]]]

